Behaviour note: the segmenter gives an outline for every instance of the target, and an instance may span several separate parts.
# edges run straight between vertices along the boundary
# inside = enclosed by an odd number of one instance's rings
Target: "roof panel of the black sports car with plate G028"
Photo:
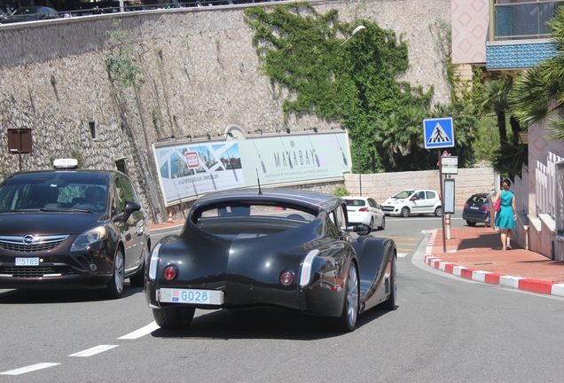
[[[303,207],[332,211],[341,205],[341,197],[325,194],[317,191],[304,191],[296,189],[276,189],[262,188],[241,188],[228,191],[216,191],[202,196],[192,207],[192,212],[199,210],[202,206],[221,204],[225,202],[241,203],[244,201],[254,201],[255,203],[281,202],[289,205],[299,205]]]

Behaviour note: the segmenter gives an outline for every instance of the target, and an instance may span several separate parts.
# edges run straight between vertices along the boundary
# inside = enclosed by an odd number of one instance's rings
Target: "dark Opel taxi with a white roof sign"
[[[133,185],[117,171],[62,169],[75,162],[0,184],[0,288],[91,288],[119,298],[125,278],[145,285],[149,231]]]

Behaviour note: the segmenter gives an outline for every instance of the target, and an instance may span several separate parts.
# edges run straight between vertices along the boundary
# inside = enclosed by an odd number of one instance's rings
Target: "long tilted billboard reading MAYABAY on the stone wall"
[[[307,184],[350,172],[346,131],[153,145],[167,206],[209,191]]]

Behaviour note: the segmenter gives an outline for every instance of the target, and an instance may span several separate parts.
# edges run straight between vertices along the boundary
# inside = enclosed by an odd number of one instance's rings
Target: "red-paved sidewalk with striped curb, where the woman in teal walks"
[[[564,297],[564,262],[524,250],[512,243],[501,250],[499,234],[490,227],[450,229],[443,252],[443,231],[436,230],[427,244],[425,262],[435,268],[474,281],[503,285],[532,293]]]

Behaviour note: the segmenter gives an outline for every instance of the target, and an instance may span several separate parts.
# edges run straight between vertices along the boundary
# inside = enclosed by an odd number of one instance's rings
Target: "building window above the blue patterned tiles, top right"
[[[511,3],[510,3],[511,2]],[[544,38],[550,34],[546,21],[564,1],[490,0],[490,40]]]

